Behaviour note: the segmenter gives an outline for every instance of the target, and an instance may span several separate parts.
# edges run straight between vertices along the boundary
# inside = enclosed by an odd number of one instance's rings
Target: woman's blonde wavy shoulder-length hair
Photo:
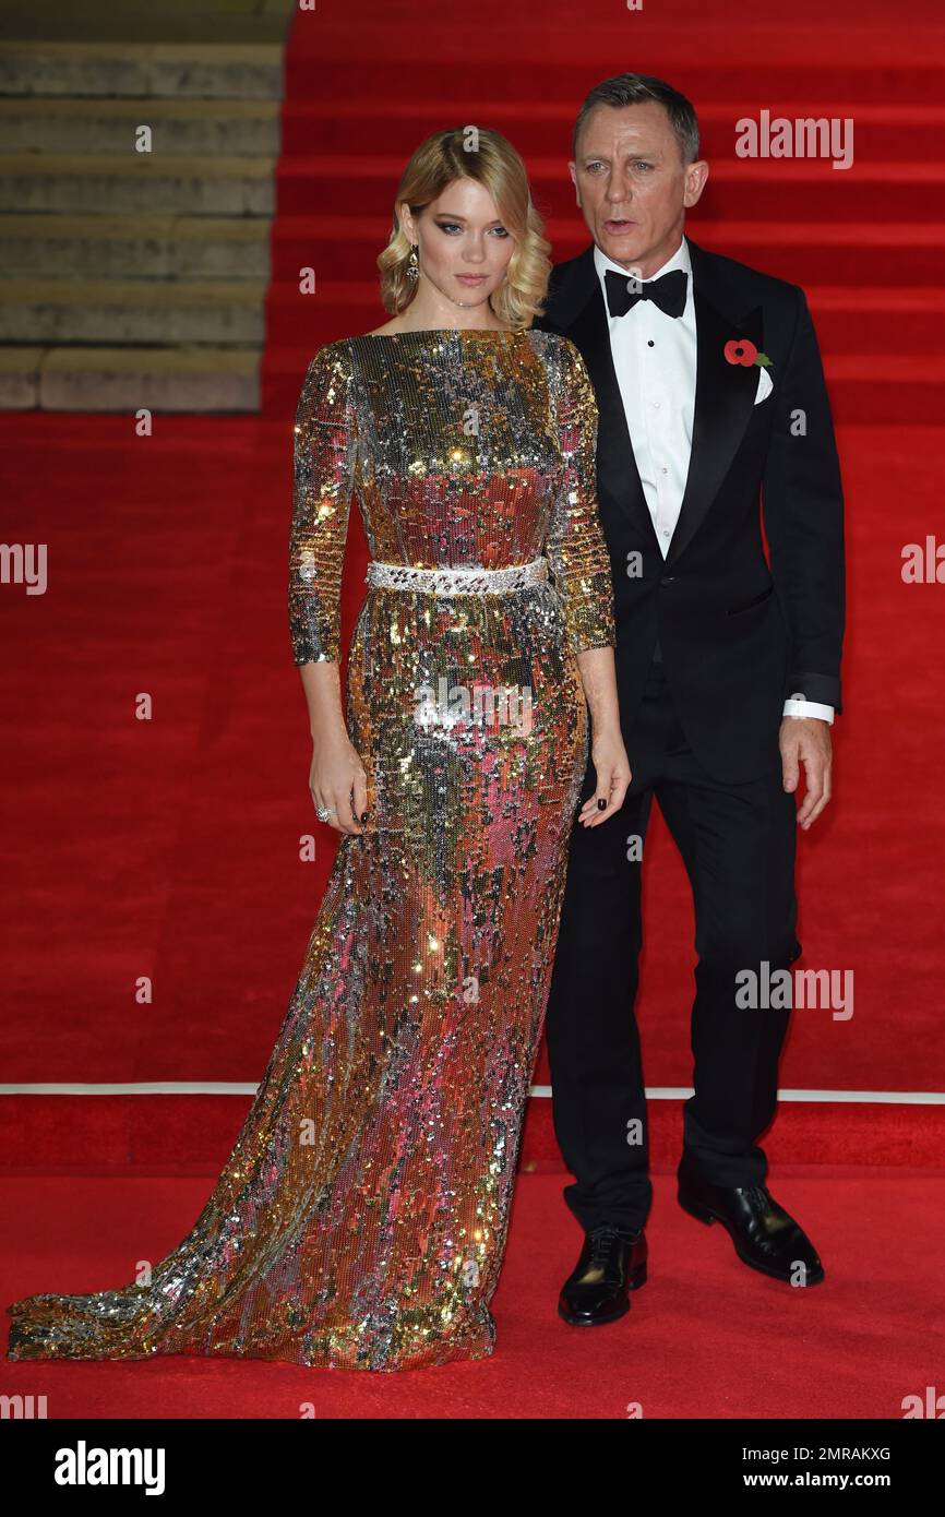
[[[514,240],[505,279],[490,296],[501,322],[528,328],[542,313],[551,275],[551,243],[535,211],[520,155],[501,132],[478,126],[455,126],[432,132],[413,153],[394,197],[393,228],[378,256],[381,302],[391,316],[405,311],[417,293],[408,278],[411,241],[399,208],[407,200],[414,215],[426,209],[457,179],[475,179],[491,194],[502,225]]]

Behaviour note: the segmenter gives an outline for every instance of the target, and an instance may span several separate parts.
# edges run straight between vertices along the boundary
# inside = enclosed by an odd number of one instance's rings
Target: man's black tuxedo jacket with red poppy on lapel
[[[787,695],[801,690],[840,710],[843,496],[804,291],[687,241],[698,331],[695,419],[666,560],[637,473],[593,244],[552,272],[534,325],[575,343],[598,400],[598,507],[611,557],[617,692],[631,763],[634,718],[658,639],[693,752],[713,778],[734,784],[780,763]],[[771,360],[774,390],[758,405],[758,366],[725,358],[725,344],[740,337]]]

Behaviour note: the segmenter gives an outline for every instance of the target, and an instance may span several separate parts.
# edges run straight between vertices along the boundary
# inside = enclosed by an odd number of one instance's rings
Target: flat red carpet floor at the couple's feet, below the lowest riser
[[[748,1270],[728,1235],[687,1217],[675,1186],[660,1180],[648,1226],[651,1277],[622,1321],[578,1329],[558,1320],[557,1294],[579,1229],[563,1211],[561,1179],[526,1174],[493,1297],[488,1359],[400,1374],[177,1356],[5,1362],[3,1390],[47,1396],[50,1418],[297,1418],[302,1403],[314,1403],[320,1418],[623,1420],[639,1406],[646,1420],[895,1420],[904,1396],[942,1387],[942,1188],[834,1171],[784,1180],[778,1195],[810,1224],[827,1268],[804,1291]],[[179,1241],[203,1195],[185,1180],[3,1182],[0,1211],[17,1218],[20,1253],[0,1277],[3,1300],[27,1286],[123,1283],[140,1258]]]

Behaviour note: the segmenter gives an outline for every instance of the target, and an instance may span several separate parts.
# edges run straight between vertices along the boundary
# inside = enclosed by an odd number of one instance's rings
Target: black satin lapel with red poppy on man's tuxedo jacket
[[[699,259],[698,265],[701,262]],[[725,358],[725,344],[733,338],[748,337],[758,352],[763,352],[764,340],[761,306],[755,306],[736,322],[722,316],[698,279],[698,265],[693,255],[696,396],[692,451],[680,519],[666,555],[667,567],[675,563],[702,525],[745,435],[758,390],[758,366],[730,364]]]

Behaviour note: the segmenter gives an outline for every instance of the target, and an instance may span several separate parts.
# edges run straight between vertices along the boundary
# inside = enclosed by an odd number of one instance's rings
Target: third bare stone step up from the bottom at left
[[[265,217],[0,215],[0,278],[267,279]]]

